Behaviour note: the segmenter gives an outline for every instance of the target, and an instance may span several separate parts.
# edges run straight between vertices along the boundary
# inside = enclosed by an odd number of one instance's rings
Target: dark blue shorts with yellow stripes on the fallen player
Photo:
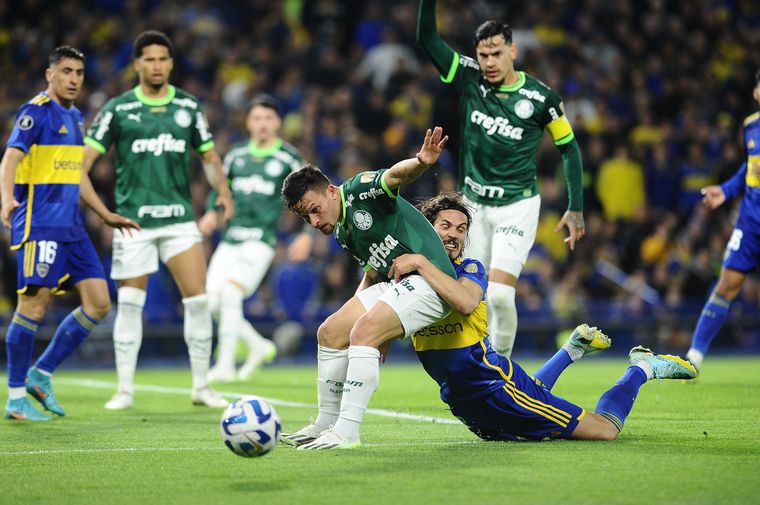
[[[501,357],[509,378],[485,396],[452,403],[451,412],[484,440],[570,438],[586,411],[551,394],[513,363]]]

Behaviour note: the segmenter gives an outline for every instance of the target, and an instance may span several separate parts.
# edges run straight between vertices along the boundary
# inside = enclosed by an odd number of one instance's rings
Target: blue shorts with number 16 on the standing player
[[[76,242],[29,240],[16,251],[18,293],[29,286],[51,288],[62,294],[85,279],[105,279],[106,274],[89,238]]]

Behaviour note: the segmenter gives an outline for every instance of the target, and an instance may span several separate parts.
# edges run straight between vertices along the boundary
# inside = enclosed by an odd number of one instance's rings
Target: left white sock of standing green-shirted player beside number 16
[[[130,286],[119,288],[116,319],[113,323],[113,348],[119,391],[133,394],[137,355],[142,345],[142,309],[145,291]]]

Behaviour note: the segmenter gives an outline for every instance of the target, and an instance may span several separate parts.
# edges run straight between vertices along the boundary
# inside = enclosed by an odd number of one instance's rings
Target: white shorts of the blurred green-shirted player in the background
[[[245,289],[247,298],[258,289],[273,259],[274,248],[258,240],[238,244],[220,242],[208,264],[206,291],[209,295],[218,295],[224,283],[232,280]]]

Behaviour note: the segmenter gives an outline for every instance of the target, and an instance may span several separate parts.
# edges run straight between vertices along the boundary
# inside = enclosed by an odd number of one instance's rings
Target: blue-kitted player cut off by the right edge
[[[760,70],[755,73],[752,97],[760,104]],[[760,112],[744,120],[744,145],[747,161],[720,186],[702,189],[703,202],[717,209],[744,189],[739,218],[726,245],[718,284],[702,309],[686,358],[701,368],[710,343],[728,318],[728,309],[744,286],[747,274],[755,270],[760,258]]]

